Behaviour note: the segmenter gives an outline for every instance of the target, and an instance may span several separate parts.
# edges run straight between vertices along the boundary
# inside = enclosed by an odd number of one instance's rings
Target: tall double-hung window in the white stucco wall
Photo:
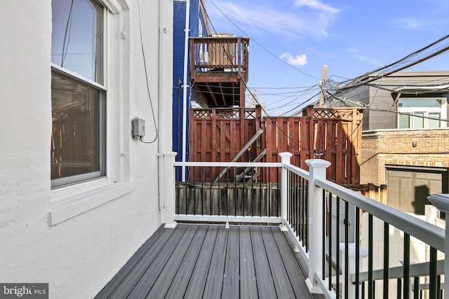
[[[104,14],[94,0],[52,1],[52,187],[105,176]]]

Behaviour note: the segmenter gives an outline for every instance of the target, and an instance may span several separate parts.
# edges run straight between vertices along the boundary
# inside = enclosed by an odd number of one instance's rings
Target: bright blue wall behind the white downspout
[[[176,160],[182,161],[182,84],[184,82],[184,43],[185,43],[185,10],[186,1],[173,2],[173,151],[177,152]],[[199,18],[201,18],[203,36],[206,36],[206,25],[199,9],[199,0],[190,1],[189,36],[199,36]],[[190,53],[187,57],[189,59]],[[187,82],[190,85],[190,63],[187,64]],[[179,84],[180,83],[180,84]],[[190,87],[187,88],[187,109],[190,107]],[[189,160],[189,112],[187,112],[187,155]]]

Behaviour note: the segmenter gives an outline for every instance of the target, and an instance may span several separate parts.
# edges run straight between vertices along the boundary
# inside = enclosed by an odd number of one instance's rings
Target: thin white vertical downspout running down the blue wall
[[[184,78],[182,81],[182,162],[187,157],[187,58],[189,57],[189,21],[190,0],[186,0],[185,7],[185,39],[184,39]],[[185,181],[185,166],[182,166],[182,181]]]

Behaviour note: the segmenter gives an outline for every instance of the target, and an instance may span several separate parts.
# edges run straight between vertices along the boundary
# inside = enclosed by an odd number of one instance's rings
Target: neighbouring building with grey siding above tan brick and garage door
[[[424,214],[428,195],[449,192],[448,78],[449,71],[398,72],[330,102],[366,108],[361,183],[387,185],[391,207]]]

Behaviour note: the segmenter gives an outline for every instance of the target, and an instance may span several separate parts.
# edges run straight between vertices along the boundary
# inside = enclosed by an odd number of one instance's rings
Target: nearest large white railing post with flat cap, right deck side
[[[330,162],[321,159],[305,161],[309,166],[309,277],[306,279],[310,293],[323,293],[316,277],[323,276],[323,188],[315,185],[316,179],[326,179]]]

